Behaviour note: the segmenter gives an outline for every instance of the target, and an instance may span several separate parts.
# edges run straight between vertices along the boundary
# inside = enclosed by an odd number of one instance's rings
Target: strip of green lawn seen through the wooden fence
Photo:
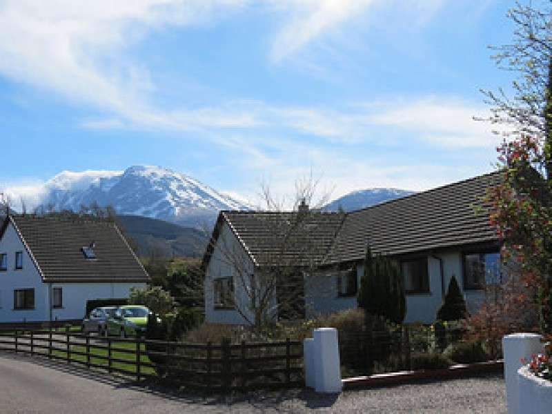
[[[128,363],[113,361],[111,366],[114,368],[124,369],[126,371],[129,371],[129,373],[135,373],[137,371],[135,353],[126,353],[124,351],[117,351],[117,349],[130,349],[132,351],[135,351],[136,344],[133,344],[131,342],[117,342],[115,344],[112,344],[111,348],[111,357],[117,359],[128,359]],[[75,351],[86,353],[86,346],[71,346],[71,360],[86,362],[86,355],[77,355],[73,353]],[[150,359],[148,358],[148,355],[146,355],[146,347],[144,346],[144,344],[140,345],[140,352],[140,362],[150,363]],[[108,356],[107,349],[95,348],[93,345],[90,345],[88,353],[90,353],[90,362],[92,364],[105,366],[106,368],[109,366],[108,360],[101,358]],[[67,357],[67,351],[64,351],[62,349],[53,350],[52,354],[58,355],[60,357]],[[94,355],[97,355],[97,357],[95,357]],[[140,373],[155,374],[155,370],[153,368],[150,368],[149,366],[140,366]]]

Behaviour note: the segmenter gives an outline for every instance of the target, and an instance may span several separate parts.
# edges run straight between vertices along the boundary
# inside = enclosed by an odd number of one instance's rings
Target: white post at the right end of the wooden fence
[[[337,329],[315,329],[314,335],[315,391],[340,393],[343,388]]]

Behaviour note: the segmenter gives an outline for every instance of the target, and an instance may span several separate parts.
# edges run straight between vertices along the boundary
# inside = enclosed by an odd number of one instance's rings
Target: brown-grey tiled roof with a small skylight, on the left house
[[[21,235],[44,282],[148,282],[150,277],[115,224],[15,215]],[[81,248],[94,242],[96,259]]]

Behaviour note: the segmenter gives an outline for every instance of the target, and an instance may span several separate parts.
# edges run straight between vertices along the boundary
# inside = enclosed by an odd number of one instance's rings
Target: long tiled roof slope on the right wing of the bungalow
[[[326,263],[364,258],[369,239],[373,253],[406,255],[469,244],[497,242],[482,197],[496,172],[348,213]]]

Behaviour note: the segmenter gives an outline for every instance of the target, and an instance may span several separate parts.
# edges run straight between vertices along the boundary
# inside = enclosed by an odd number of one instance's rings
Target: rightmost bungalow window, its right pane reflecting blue
[[[480,289],[484,284],[500,284],[500,253],[466,253],[464,255],[464,289]]]

